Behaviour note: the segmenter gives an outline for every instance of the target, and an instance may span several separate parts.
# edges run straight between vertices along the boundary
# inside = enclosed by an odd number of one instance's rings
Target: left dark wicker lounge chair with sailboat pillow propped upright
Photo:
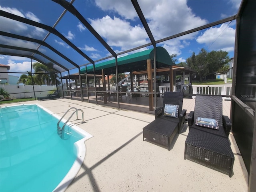
[[[163,106],[155,110],[155,120],[143,128],[143,141],[147,140],[165,146],[170,144],[175,134],[181,131],[186,110],[182,110],[183,92],[165,92]],[[178,105],[178,118],[164,116],[165,105]]]

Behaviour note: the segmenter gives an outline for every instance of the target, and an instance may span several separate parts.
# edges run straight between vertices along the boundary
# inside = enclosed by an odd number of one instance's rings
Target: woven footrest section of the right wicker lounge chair
[[[214,166],[214,170],[232,176],[235,158],[222,127],[220,130],[190,128],[185,141],[184,159],[186,155]]]

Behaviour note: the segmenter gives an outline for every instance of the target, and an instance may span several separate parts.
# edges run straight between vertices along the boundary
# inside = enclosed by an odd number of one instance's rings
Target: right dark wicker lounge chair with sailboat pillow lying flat
[[[196,125],[196,120],[210,118],[218,121],[218,129]],[[232,175],[234,154],[228,141],[231,122],[222,115],[222,97],[196,96],[195,109],[188,114],[189,133],[185,152],[190,160]]]

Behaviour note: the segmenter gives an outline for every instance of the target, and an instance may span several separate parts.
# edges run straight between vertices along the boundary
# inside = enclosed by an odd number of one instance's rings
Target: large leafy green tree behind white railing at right
[[[186,62],[189,68],[197,72],[200,82],[202,82],[206,76],[218,72],[229,60],[228,52],[226,51],[207,52],[202,48],[198,55],[193,52],[192,56],[189,57]]]

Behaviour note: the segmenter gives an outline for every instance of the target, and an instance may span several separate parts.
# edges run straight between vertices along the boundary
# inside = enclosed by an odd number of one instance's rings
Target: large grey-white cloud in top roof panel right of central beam
[[[196,16],[186,0],[139,1],[156,40],[202,26],[207,20]],[[182,37],[181,37],[182,38]],[[186,36],[190,38],[190,36]]]

